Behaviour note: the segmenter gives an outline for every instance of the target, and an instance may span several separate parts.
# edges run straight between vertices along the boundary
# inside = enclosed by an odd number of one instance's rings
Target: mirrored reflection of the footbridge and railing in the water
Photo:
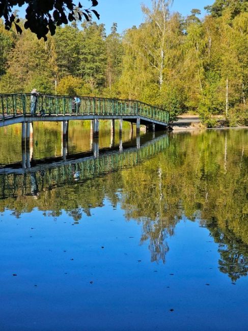
[[[166,148],[169,139],[168,135],[162,135],[147,141],[145,135],[118,147],[99,150],[97,142],[93,145],[93,152],[68,155],[67,159],[32,160],[30,150],[23,149],[22,163],[0,167],[0,199],[37,195],[42,190],[137,166]]]

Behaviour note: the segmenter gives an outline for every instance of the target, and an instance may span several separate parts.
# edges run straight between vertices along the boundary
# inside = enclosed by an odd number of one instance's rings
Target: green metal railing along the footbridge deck
[[[146,117],[168,123],[169,113],[162,108],[136,100],[78,97],[80,104],[73,104],[73,98],[63,95],[39,95],[35,115],[118,115]],[[31,94],[0,94],[0,120],[16,116],[31,115]]]

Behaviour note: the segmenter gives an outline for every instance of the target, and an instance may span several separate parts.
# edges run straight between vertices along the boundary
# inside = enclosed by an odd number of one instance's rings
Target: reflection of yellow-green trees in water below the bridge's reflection
[[[169,142],[135,168],[41,192],[37,200],[3,200],[0,210],[9,208],[16,215],[35,207],[54,215],[65,210],[78,223],[105,199],[113,207],[120,203],[126,219],[141,224],[141,243],[148,242],[151,261],[163,263],[167,238],[182,216],[197,218],[219,244],[219,270],[236,281],[248,272],[247,132],[175,135]],[[37,190],[35,182],[32,190]]]

